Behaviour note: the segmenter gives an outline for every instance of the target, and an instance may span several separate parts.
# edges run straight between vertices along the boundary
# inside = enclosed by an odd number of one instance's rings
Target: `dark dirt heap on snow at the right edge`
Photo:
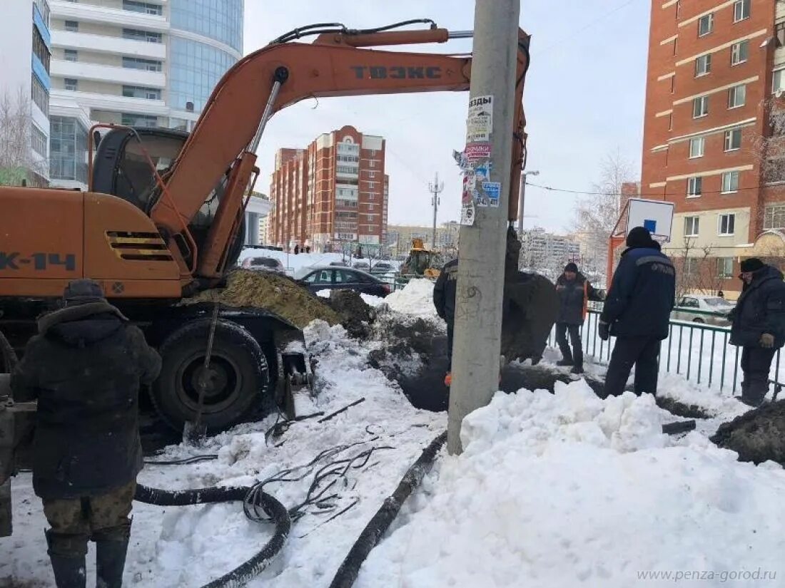
[[[738,453],[740,461],[763,463],[771,459],[785,466],[785,400],[721,424],[711,441]]]

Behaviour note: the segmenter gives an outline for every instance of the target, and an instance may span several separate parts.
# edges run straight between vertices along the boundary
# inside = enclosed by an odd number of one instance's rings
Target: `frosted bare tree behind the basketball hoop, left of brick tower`
[[[600,181],[592,187],[597,194],[578,202],[572,230],[583,242],[582,265],[587,270],[604,274],[608,238],[621,212],[622,184],[633,177],[633,166],[621,152],[608,154],[601,163]]]

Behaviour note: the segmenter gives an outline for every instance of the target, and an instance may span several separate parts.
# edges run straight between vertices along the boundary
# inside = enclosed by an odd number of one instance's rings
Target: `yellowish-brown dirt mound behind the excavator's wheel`
[[[338,313],[308,289],[287,276],[272,272],[235,270],[226,277],[224,288],[199,292],[184,304],[217,302],[228,307],[265,308],[298,328],[320,319],[330,325],[341,322]]]

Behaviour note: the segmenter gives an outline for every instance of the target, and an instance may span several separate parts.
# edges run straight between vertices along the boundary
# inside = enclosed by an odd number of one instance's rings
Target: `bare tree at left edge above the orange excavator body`
[[[20,185],[31,174],[46,175],[46,161],[31,152],[31,99],[19,89],[16,96],[0,93],[0,184]]]

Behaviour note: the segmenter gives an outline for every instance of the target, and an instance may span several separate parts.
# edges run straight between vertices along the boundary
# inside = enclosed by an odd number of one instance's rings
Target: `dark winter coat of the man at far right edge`
[[[731,344],[760,347],[763,333],[774,336],[774,346],[785,343],[785,282],[776,267],[765,266],[753,274],[731,310]]]

